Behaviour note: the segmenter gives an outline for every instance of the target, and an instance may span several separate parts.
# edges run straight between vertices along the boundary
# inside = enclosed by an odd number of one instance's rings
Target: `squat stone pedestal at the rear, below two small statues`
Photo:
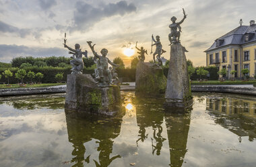
[[[166,77],[161,67],[139,61],[136,67],[135,95],[143,97],[163,96]]]

